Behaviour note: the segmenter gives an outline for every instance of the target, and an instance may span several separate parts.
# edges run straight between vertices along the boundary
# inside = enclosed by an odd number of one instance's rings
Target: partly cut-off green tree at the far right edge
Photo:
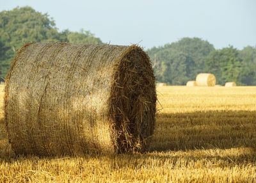
[[[256,85],[256,47],[244,47],[239,52],[241,58],[241,72],[239,82],[246,85]]]

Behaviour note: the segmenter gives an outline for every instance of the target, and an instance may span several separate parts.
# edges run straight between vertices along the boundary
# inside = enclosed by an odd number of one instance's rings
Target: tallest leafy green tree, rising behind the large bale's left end
[[[28,42],[59,40],[54,20],[28,6],[0,12],[0,36],[13,51]]]

